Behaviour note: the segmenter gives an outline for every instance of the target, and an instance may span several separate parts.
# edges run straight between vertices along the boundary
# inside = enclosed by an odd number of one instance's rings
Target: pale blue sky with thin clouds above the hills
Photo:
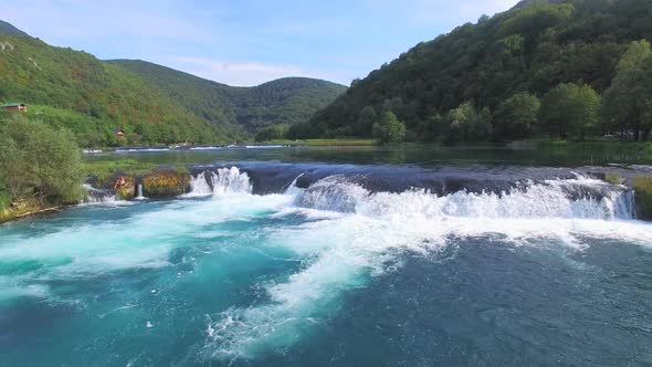
[[[518,0],[2,0],[0,19],[101,59],[140,59],[230,85],[349,84],[420,41]]]

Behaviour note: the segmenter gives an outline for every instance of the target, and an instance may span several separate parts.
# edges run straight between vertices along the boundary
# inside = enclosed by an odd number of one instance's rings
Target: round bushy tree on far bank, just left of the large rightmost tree
[[[599,122],[600,96],[588,85],[559,84],[541,101],[541,126],[559,138],[568,136],[583,140]]]

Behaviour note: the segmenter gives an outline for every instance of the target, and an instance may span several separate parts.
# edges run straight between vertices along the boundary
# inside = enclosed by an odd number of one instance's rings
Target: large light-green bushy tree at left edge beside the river
[[[0,127],[0,176],[13,198],[41,203],[76,201],[82,193],[81,153],[66,129],[17,119]]]

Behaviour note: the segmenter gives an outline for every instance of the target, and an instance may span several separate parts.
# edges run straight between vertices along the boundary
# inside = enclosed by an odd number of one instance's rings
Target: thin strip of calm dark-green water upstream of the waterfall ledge
[[[618,146],[586,146],[515,150],[496,147],[287,147],[270,149],[222,148],[210,150],[170,150],[101,154],[86,159],[132,158],[156,164],[209,164],[215,160],[281,160],[325,161],[347,164],[413,164],[433,166],[453,165],[524,165],[524,166],[583,166],[607,164],[645,164],[645,155],[618,151]],[[613,148],[613,149],[612,149]]]

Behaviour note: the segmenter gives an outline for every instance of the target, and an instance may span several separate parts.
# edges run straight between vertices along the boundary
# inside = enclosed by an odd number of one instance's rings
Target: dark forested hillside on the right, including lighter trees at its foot
[[[354,81],[287,137],[646,139],[652,1],[523,1]]]

